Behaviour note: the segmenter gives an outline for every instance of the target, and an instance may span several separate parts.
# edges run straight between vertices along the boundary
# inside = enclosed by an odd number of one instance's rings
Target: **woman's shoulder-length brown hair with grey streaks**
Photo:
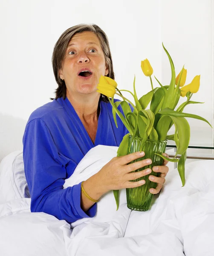
[[[85,31],[93,32],[98,37],[101,44],[101,48],[104,53],[106,65],[109,70],[109,73],[107,74],[107,76],[110,77],[111,79],[114,79],[113,63],[112,63],[112,57],[111,57],[111,52],[109,47],[109,41],[105,32],[95,24],[92,24],[92,25],[79,24],[76,26],[72,26],[60,36],[53,50],[52,66],[53,66],[54,76],[58,84],[58,88],[55,91],[55,94],[56,94],[55,99],[58,99],[60,97],[63,97],[64,99],[66,98],[66,85],[65,85],[65,81],[62,80],[59,76],[59,70],[63,67],[65,52],[68,47],[69,41],[72,39],[72,37],[75,34],[85,32]],[[103,94],[100,95],[100,100],[108,102],[107,96],[104,96]]]

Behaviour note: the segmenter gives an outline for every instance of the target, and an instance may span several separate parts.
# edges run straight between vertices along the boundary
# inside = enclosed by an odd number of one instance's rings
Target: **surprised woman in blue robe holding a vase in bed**
[[[109,43],[96,25],[80,24],[67,29],[55,44],[52,55],[58,83],[52,102],[36,109],[29,117],[23,136],[23,159],[31,194],[31,211],[46,212],[74,222],[93,217],[95,202],[110,190],[142,186],[145,180],[130,182],[151,172],[130,173],[151,163],[150,159],[129,164],[142,157],[137,152],[114,157],[97,174],[78,185],[63,189],[84,155],[96,145],[119,146],[127,129],[118,119],[114,124],[112,107],[97,90],[100,76],[114,79]],[[151,193],[159,193],[168,167],[157,166],[162,177]],[[82,185],[82,187],[81,187]]]

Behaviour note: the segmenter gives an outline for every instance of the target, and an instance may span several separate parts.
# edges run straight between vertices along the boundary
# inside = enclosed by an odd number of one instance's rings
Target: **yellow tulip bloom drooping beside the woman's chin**
[[[101,76],[97,85],[97,92],[107,97],[113,97],[116,93],[117,83],[107,76]]]

